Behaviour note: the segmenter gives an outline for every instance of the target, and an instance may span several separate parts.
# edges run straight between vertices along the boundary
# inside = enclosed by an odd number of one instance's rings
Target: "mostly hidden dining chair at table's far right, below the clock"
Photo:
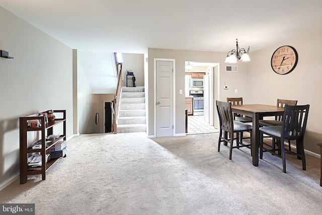
[[[297,100],[286,100],[286,99],[277,99],[277,107],[285,107],[285,105],[296,105],[297,104]],[[266,120],[266,119],[262,119],[259,120],[259,126],[274,126],[274,125],[279,125],[282,126],[283,122],[283,115],[280,116],[275,116],[275,120]],[[276,141],[273,138],[272,140],[272,146],[275,147],[276,145]],[[291,151],[291,141],[288,140],[288,150]]]

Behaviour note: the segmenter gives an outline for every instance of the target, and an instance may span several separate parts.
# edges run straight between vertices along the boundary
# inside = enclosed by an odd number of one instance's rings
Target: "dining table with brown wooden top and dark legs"
[[[253,131],[252,131],[252,153],[253,153],[253,165],[258,166],[259,159],[259,120],[264,116],[279,116],[284,114],[283,107],[277,107],[274,105],[232,105],[231,110],[234,113],[238,113],[253,118]]]

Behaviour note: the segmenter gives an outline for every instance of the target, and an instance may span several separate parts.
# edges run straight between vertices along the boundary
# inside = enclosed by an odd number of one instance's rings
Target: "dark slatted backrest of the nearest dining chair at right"
[[[309,105],[285,105],[283,132],[285,139],[304,138]]]

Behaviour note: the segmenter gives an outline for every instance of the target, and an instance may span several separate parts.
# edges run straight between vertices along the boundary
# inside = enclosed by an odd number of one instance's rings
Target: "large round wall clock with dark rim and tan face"
[[[297,52],[292,46],[284,45],[272,55],[271,66],[277,74],[290,73],[297,64]]]

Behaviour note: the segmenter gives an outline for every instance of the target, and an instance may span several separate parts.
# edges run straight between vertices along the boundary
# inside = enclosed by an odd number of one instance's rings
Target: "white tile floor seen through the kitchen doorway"
[[[209,125],[204,116],[188,116],[188,132],[186,134],[216,133],[218,129]]]

